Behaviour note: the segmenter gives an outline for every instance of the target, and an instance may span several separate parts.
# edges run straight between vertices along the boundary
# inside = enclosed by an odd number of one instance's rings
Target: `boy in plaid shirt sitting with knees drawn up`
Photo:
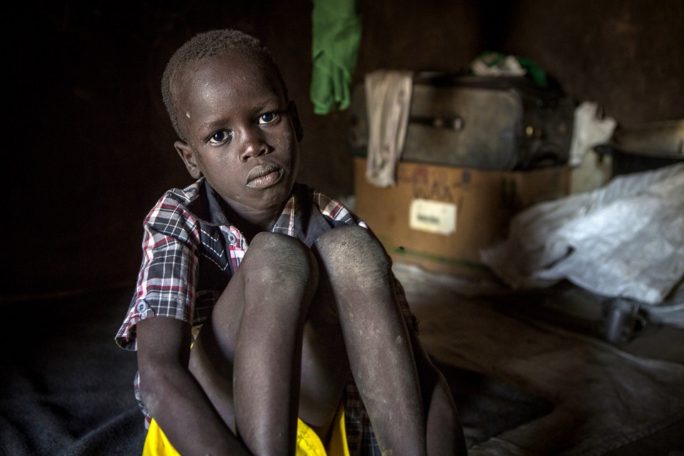
[[[145,219],[116,338],[138,351],[144,454],[348,454],[366,416],[355,386],[383,455],[465,451],[383,247],[296,183],[302,129],[269,51],[200,33],[162,95],[196,182]]]

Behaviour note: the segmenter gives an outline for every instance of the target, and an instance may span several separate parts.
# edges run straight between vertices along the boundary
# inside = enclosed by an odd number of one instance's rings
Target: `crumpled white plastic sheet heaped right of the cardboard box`
[[[568,279],[602,296],[660,304],[684,276],[684,163],[530,207],[482,261],[515,289]]]

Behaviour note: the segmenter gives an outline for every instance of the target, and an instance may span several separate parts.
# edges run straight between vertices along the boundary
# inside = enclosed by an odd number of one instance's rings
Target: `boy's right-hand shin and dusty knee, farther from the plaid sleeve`
[[[321,281],[338,306],[354,380],[380,450],[425,455],[425,418],[411,341],[383,246],[361,227],[323,234],[315,244]]]

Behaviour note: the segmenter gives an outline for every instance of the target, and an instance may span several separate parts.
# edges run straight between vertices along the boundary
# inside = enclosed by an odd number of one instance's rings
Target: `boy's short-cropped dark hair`
[[[274,71],[276,81],[281,86],[283,97],[288,101],[287,87],[280,69],[269,51],[254,36],[242,31],[232,29],[220,29],[197,33],[186,41],[171,56],[162,76],[162,99],[171,118],[171,124],[178,137],[185,141],[185,132],[178,122],[178,110],[176,100],[171,93],[172,78],[177,71],[185,68],[189,63],[194,63],[202,58],[215,56],[224,51],[238,51],[251,58],[257,63],[265,65],[265,69]]]

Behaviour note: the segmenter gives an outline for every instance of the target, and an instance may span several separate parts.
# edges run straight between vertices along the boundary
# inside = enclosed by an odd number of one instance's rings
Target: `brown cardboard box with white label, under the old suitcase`
[[[491,274],[480,250],[505,238],[514,214],[569,193],[569,167],[531,171],[475,170],[400,162],[394,187],[366,180],[355,157],[356,214],[395,262],[446,274]]]

